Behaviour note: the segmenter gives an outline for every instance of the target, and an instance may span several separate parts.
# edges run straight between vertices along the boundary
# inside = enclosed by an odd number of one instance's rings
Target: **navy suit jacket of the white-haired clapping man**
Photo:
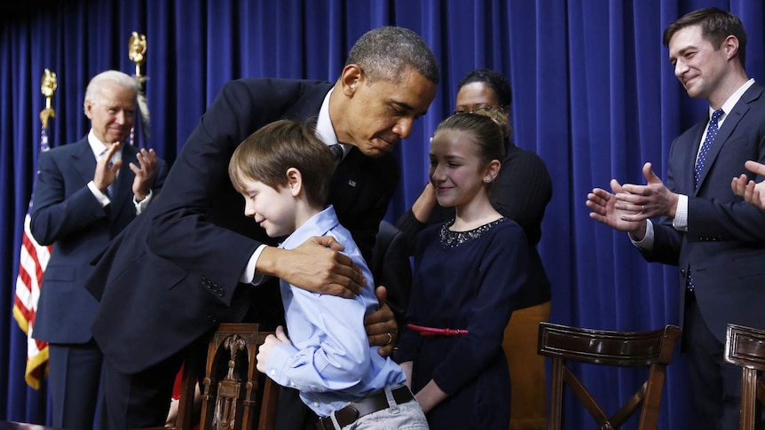
[[[87,187],[96,171],[87,137],[40,154],[30,229],[41,245],[52,244],[53,252],[41,285],[35,339],[85,343],[92,338],[98,302],[84,288],[93,270],[89,263],[136,217],[131,190],[135,175],[128,166],[130,162],[138,164],[135,148],[124,145],[122,160],[114,197],[101,207]],[[167,173],[160,160],[153,199]]]

